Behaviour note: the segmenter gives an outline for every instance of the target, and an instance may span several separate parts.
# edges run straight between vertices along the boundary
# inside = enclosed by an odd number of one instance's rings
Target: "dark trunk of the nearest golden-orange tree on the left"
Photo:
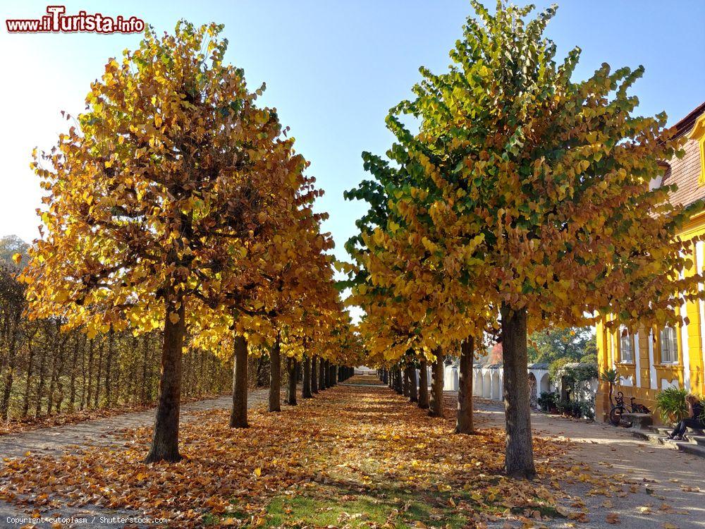
[[[172,293],[173,295],[173,293]],[[152,446],[145,463],[157,461],[180,461],[178,453],[178,419],[181,399],[181,355],[185,334],[185,305],[183,297],[166,303],[164,320],[164,343],[161,348],[161,377],[159,378],[159,400],[154,419]],[[178,316],[176,323],[171,321]]]

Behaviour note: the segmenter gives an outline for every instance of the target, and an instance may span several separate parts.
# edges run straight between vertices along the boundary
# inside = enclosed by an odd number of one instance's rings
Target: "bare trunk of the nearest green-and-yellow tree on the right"
[[[505,470],[513,478],[536,476],[532,447],[529,376],[527,375],[527,311],[502,305],[504,410],[507,429]]]

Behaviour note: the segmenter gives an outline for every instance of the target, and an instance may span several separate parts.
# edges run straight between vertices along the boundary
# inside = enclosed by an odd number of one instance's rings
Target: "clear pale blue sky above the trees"
[[[488,4],[494,5],[494,1]],[[548,2],[539,2],[539,7]],[[46,3],[4,2],[5,18],[38,18]],[[407,97],[418,68],[440,71],[460,37],[471,6],[466,0],[233,0],[135,2],[84,1],[66,5],[105,15],[137,16],[157,30],[176,20],[226,25],[226,59],[245,68],[250,87],[267,84],[266,104],[291,128],[298,151],[311,162],[326,195],[319,209],[331,214],[325,229],[336,254],[355,231],[364,205],[343,200],[343,190],[366,178],[360,153],[384,153],[390,107]],[[705,1],[568,0],[547,34],[559,56],[582,47],[578,78],[602,62],[643,64],[637,82],[642,114],[668,112],[675,123],[705,100]],[[32,147],[51,147],[68,128],[59,111],[77,114],[89,83],[111,56],[135,47],[139,35],[9,35],[4,20],[0,45],[4,75],[4,138],[0,173],[0,236],[37,236],[35,208],[41,196],[29,169]]]

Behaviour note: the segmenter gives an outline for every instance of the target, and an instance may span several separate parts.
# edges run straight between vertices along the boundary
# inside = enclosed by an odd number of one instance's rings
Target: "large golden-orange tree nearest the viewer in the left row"
[[[249,241],[303,183],[305,162],[276,111],[255,104],[262,89],[250,92],[243,71],[223,63],[221,30],[147,30],[106,64],[76,125],[35,162],[48,194],[47,233],[25,272],[32,313],[61,315],[90,337],[164,329],[148,462],[180,459],[187,322],[233,305],[223,274],[243,269]]]

